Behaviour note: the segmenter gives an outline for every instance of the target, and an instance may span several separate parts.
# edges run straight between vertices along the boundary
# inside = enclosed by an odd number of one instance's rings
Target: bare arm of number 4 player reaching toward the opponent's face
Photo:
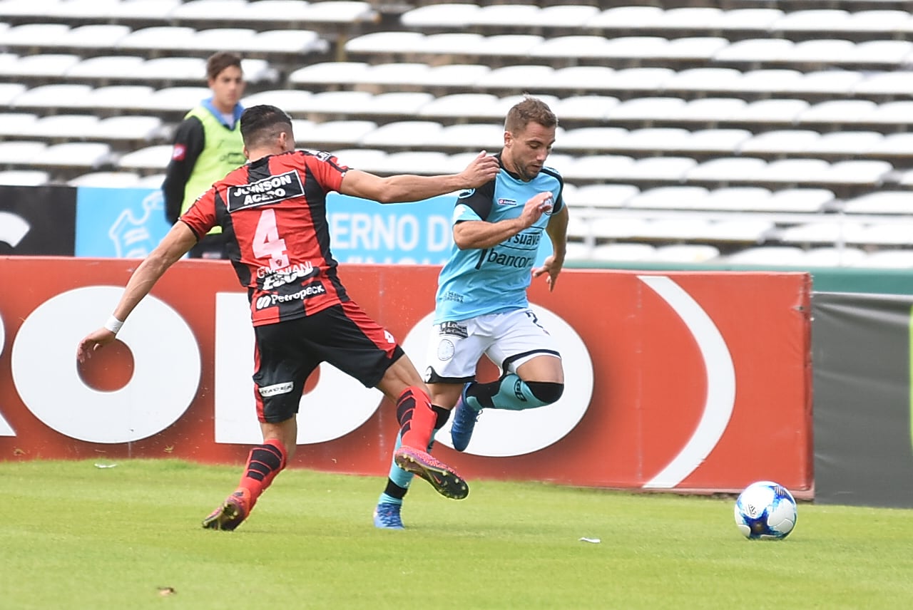
[[[381,203],[418,202],[461,189],[476,189],[494,180],[499,169],[498,159],[482,150],[465,170],[444,176],[402,174],[381,178],[367,171],[346,171],[340,192]]]

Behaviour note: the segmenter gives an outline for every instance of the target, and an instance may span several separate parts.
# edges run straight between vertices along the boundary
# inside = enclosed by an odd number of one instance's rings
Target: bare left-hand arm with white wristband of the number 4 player
[[[121,324],[131,311],[136,305],[139,305],[145,295],[149,294],[152,286],[158,282],[168,267],[194,247],[194,243],[196,243],[196,236],[190,227],[184,222],[176,222],[162,242],[143,259],[140,266],[131,274],[123,295],[121,295],[121,301],[114,308],[114,313],[105,326],[92,331],[79,341],[79,346],[76,348],[76,357],[79,362],[85,362],[86,358],[92,357],[92,352],[96,349],[114,341],[117,331],[120,330]]]

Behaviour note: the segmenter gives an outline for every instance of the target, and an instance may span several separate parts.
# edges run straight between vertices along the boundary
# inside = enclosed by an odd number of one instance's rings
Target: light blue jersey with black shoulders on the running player
[[[520,233],[483,250],[460,250],[453,246],[438,277],[435,324],[467,320],[477,315],[522,309],[529,305],[526,291],[530,287],[532,268],[536,263],[541,240],[548,239],[545,226],[551,214],[559,212],[564,202],[561,174],[544,167],[531,181],[519,180],[504,169],[487,184],[459,194],[453,223],[462,221],[498,222],[517,218],[523,206],[540,192],[550,191],[552,210]]]

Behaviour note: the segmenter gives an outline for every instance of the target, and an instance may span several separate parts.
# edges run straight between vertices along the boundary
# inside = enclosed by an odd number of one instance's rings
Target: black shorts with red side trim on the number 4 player
[[[321,362],[374,388],[403,356],[383,326],[348,301],[316,314],[254,327],[257,418],[278,423],[298,413],[308,376]]]

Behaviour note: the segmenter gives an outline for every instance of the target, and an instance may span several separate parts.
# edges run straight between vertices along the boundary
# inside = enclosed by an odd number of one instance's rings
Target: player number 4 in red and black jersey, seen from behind
[[[80,341],[77,357],[84,360],[114,341],[162,274],[220,226],[250,301],[263,443],[250,451],[236,491],[205,517],[203,526],[236,529],[289,463],[304,383],[321,362],[394,402],[402,438],[394,457],[398,468],[418,474],[445,497],[465,498],[466,481],[425,450],[436,414],[422,377],[394,337],[352,301],[341,283],[330,248],[326,195],[338,191],[381,203],[416,202],[481,186],[497,174],[498,161],[482,151],[458,174],[381,178],[352,170],[328,152],[296,150],[289,115],[265,105],[244,111],[241,134],[250,162],[215,182],[174,223],[133,272],[106,325]]]

